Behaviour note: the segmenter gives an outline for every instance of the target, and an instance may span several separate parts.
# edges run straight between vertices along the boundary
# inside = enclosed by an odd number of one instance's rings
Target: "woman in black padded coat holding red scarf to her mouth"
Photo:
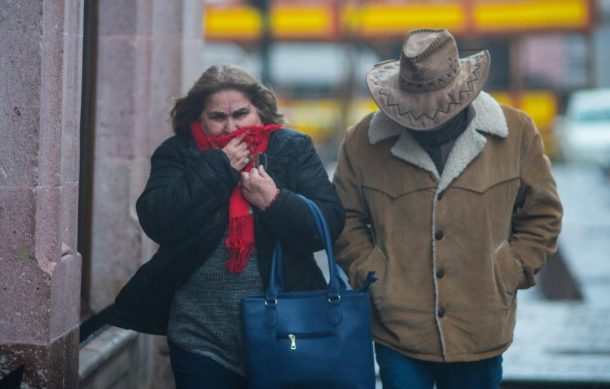
[[[245,387],[240,299],[269,282],[284,249],[284,290],[325,287],[312,253],[314,200],[336,238],[339,199],[311,139],[281,127],[273,93],[243,69],[212,66],[171,112],[136,208],[159,251],[106,313],[114,325],[167,334],[178,388]]]

